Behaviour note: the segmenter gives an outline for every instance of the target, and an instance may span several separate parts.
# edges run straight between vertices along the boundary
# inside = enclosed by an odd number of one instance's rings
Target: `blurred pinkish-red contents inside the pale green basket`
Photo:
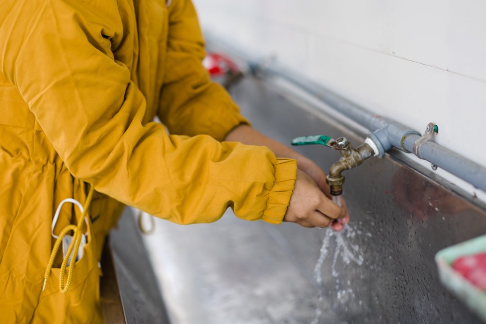
[[[474,286],[486,291],[486,253],[458,257],[452,262],[452,269]]]

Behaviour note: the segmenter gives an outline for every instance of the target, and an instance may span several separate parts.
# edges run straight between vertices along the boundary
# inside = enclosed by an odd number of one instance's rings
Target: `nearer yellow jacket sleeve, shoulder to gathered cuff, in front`
[[[215,221],[228,206],[247,220],[280,222],[296,162],[207,135],[168,136],[162,125],[144,123],[145,98],[110,50],[110,8],[84,3],[12,0],[0,12],[0,72],[69,171],[178,223]]]

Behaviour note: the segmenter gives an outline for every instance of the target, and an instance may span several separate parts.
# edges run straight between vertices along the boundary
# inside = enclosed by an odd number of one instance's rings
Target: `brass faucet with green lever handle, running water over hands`
[[[358,146],[357,149],[354,149],[345,137],[332,139],[325,135],[302,136],[296,137],[292,141],[292,145],[309,144],[322,144],[341,152],[342,157],[331,166],[329,175],[326,177],[326,182],[330,186],[331,195],[333,196],[339,196],[343,193],[344,176],[341,172],[359,166],[364,160],[377,153],[369,145],[371,143],[368,140]]]

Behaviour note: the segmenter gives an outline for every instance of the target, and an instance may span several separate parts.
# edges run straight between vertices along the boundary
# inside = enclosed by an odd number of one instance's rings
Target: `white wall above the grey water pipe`
[[[486,166],[486,1],[194,3],[211,34],[275,55],[278,64],[420,133],[434,121],[437,143]],[[474,190],[445,173],[439,170]]]

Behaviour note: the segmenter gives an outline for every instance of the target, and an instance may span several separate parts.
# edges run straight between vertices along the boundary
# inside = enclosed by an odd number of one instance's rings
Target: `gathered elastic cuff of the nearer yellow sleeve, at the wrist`
[[[290,196],[294,191],[297,176],[297,161],[287,158],[277,158],[275,163],[275,183],[268,194],[267,206],[261,220],[272,224],[282,222]]]

